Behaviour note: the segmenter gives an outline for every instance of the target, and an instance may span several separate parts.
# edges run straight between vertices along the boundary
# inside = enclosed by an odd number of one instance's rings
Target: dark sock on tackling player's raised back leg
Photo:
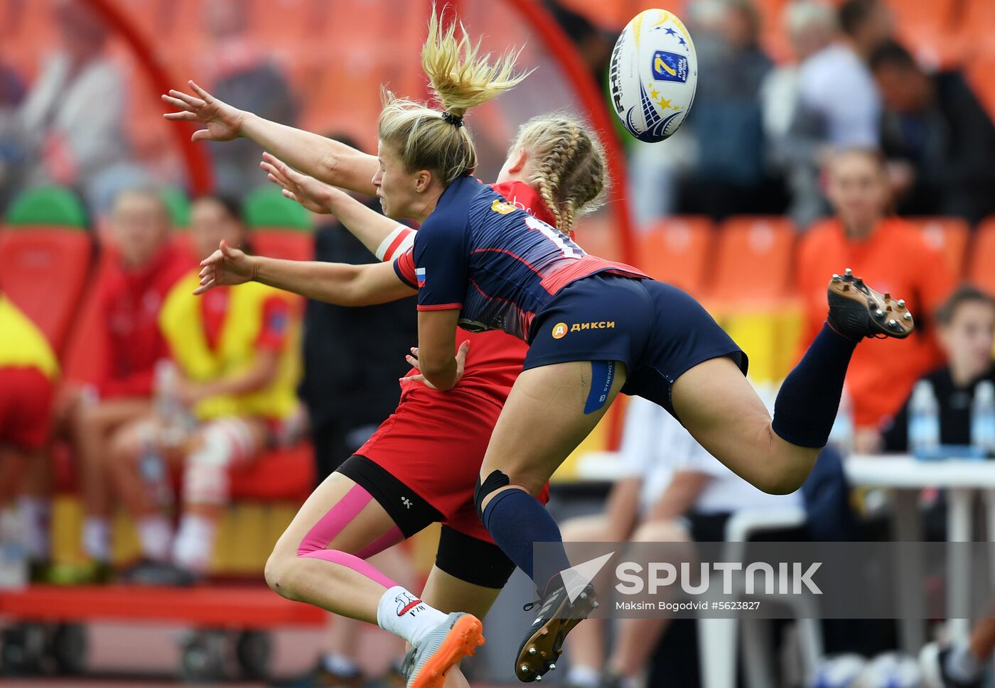
[[[826,445],[855,348],[857,342],[822,326],[777,393],[773,429],[780,437],[799,446]]]

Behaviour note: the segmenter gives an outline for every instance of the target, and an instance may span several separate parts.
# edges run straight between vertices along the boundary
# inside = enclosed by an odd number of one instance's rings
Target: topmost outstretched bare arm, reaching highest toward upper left
[[[192,81],[187,84],[196,95],[176,89],[163,94],[165,102],[179,109],[164,116],[203,124],[205,128],[194,132],[194,141],[231,141],[245,136],[316,179],[363,194],[376,193],[372,183],[378,167],[376,156],[264,119],[219,100]]]

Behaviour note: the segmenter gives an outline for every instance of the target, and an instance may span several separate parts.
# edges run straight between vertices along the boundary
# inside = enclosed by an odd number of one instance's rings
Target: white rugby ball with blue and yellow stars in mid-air
[[[695,100],[697,56],[684,23],[667,10],[644,10],[612,51],[612,109],[629,133],[654,143],[674,134]]]

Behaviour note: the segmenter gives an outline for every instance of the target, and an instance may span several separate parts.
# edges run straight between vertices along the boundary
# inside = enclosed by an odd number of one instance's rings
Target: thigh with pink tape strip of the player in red
[[[297,556],[305,538],[320,541],[325,549],[355,553],[396,527],[366,490],[334,472],[307,497],[273,553],[276,557]]]

